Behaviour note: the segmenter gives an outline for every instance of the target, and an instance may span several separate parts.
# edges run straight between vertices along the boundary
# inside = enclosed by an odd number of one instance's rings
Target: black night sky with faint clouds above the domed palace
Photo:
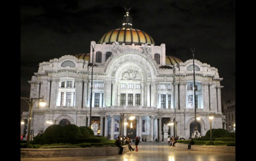
[[[218,69],[222,101],[235,100],[235,1],[21,1],[21,97],[39,63],[90,52],[106,32],[122,27],[124,6],[133,28],[149,34],[166,55],[195,59]],[[21,110],[28,105],[21,101]]]

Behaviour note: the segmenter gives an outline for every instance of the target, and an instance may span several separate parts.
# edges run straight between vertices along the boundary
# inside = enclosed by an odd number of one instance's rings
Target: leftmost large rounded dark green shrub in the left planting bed
[[[46,128],[43,138],[63,137],[62,133],[63,133],[63,127],[61,125],[50,125]],[[42,137],[41,135],[40,137]]]

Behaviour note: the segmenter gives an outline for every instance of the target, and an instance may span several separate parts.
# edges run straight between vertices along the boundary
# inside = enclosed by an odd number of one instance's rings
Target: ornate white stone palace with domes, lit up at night
[[[45,131],[49,120],[62,126],[90,125],[92,62],[91,124],[98,124],[98,135],[115,139],[124,124],[125,136],[162,140],[163,127],[174,122],[168,134],[188,139],[194,131],[194,108],[201,118],[196,121],[198,135],[204,136],[210,129],[210,115],[214,116],[212,128],[226,127],[221,112],[223,78],[217,68],[194,60],[194,97],[193,59],[183,62],[167,56],[164,43],[156,45],[149,34],[133,28],[128,10],[122,25],[102,33],[98,42],[91,41],[90,53],[64,55],[39,64],[38,72],[28,81],[30,98],[44,96],[47,104],[41,107],[37,101],[33,105],[31,129],[35,136]],[[126,117],[122,120],[122,116]],[[29,112],[23,112],[22,119],[28,118]]]

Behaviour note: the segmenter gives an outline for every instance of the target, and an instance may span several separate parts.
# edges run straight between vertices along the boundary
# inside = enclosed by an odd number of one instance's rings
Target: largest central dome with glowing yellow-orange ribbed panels
[[[125,43],[126,45],[131,45],[132,43],[135,45],[141,45],[142,43],[145,44],[147,42],[148,45],[155,45],[152,37],[144,31],[126,27],[105,33],[98,43],[102,44],[105,42],[106,44],[112,44],[114,41],[119,42],[119,44]]]

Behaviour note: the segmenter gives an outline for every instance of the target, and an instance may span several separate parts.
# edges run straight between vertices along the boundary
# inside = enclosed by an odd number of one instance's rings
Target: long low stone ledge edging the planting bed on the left
[[[123,153],[129,152],[128,146],[123,146]],[[118,147],[97,148],[61,148],[61,149],[21,149],[21,158],[53,158],[118,155]]]

